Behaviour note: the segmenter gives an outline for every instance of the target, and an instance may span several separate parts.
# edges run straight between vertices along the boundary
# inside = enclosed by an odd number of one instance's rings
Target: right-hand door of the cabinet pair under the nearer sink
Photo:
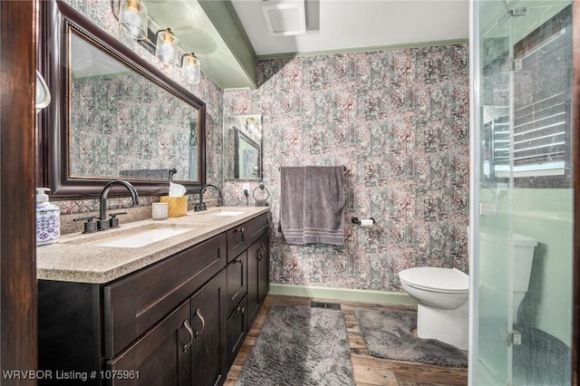
[[[226,381],[226,270],[191,297],[193,385]]]

